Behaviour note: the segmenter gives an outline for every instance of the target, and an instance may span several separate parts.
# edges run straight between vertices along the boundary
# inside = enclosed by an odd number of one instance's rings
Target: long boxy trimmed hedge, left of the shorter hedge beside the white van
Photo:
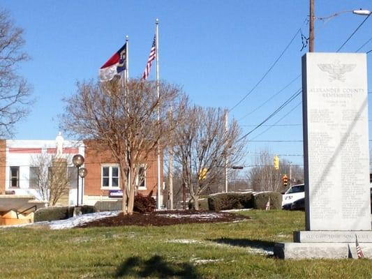
[[[251,209],[252,193],[222,193],[208,197],[210,210]]]

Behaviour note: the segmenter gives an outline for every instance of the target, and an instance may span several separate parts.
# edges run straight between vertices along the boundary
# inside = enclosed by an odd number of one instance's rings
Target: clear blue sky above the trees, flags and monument
[[[20,140],[53,140],[59,130],[57,115],[63,110],[61,99],[75,91],[77,81],[96,79],[98,68],[124,44],[126,35],[130,75],[140,77],[156,18],[161,79],[183,86],[198,105],[229,110],[253,89],[299,29],[308,36],[307,0],[2,0],[0,6],[24,29],[24,50],[31,56],[20,73],[34,87],[37,101],[27,119],[16,126],[15,138]],[[372,2],[315,0],[317,17],[358,8],[372,10]],[[364,18],[343,13],[327,22],[317,20],[315,51],[335,52]],[[372,16],[341,51],[355,52],[372,37],[371,30]],[[244,133],[301,87],[301,79],[295,80],[306,53],[301,48],[298,33],[265,79],[230,111],[230,119],[239,120]],[[369,50],[372,40],[360,52]],[[153,64],[150,78],[154,77]],[[371,84],[371,75],[369,80]],[[265,123],[276,126],[262,126],[249,135],[246,165],[263,149],[302,165],[300,102],[301,96]]]

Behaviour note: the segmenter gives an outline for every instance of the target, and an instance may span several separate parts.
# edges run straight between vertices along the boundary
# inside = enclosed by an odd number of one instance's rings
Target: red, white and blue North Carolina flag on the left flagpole
[[[99,69],[101,82],[112,80],[126,69],[126,43]]]

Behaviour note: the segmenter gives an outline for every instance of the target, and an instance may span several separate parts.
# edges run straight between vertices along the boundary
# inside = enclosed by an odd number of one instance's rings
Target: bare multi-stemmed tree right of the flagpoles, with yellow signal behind
[[[197,201],[210,186],[221,181],[228,156],[229,165],[241,160],[244,141],[241,130],[232,120],[225,129],[221,109],[190,107],[186,121],[176,128],[174,158],[182,167],[183,179],[193,201]],[[193,202],[198,210],[198,202]]]

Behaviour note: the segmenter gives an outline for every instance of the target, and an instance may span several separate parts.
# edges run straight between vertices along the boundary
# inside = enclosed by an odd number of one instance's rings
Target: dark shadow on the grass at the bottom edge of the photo
[[[130,257],[117,267],[116,278],[123,276],[151,278],[199,278],[195,268],[188,263],[174,264],[165,262],[163,257],[155,255],[144,260],[140,257]]]

